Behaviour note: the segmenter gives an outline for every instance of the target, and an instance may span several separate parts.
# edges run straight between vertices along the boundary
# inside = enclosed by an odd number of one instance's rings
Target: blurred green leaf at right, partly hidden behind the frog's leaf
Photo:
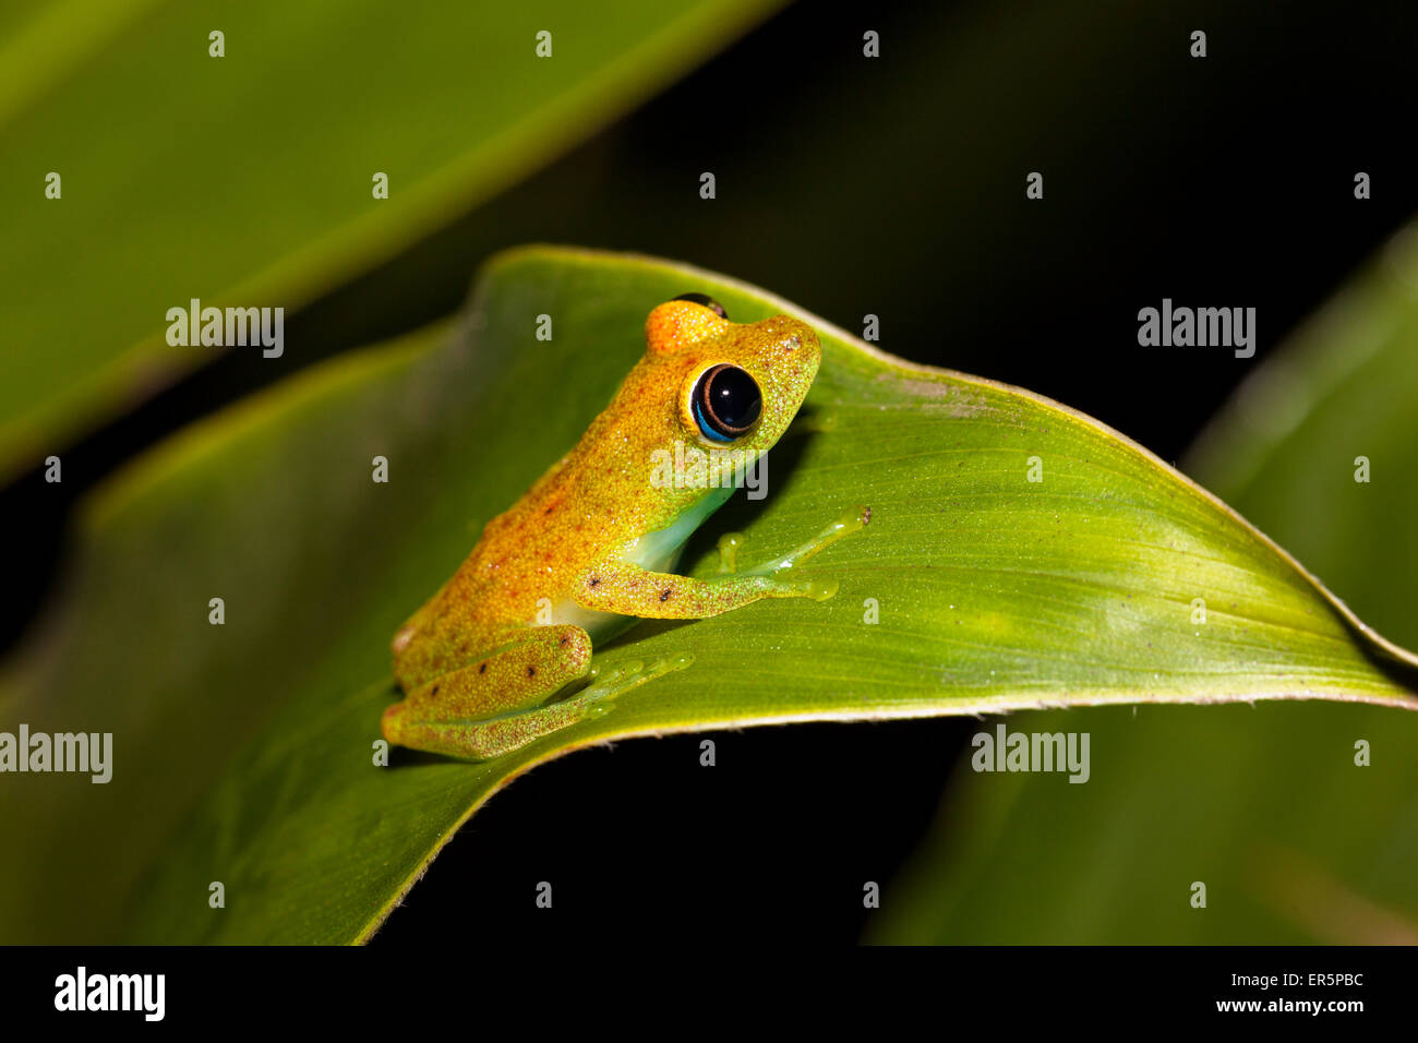
[[[1418,230],[1306,324],[1188,470],[1418,644]],[[1361,461],[1370,481],[1356,481]],[[1310,704],[1028,715],[1092,778],[963,769],[869,937],[892,942],[1418,944],[1418,718]],[[1356,763],[1356,742],[1370,746]],[[1190,904],[1194,881],[1208,904]]]

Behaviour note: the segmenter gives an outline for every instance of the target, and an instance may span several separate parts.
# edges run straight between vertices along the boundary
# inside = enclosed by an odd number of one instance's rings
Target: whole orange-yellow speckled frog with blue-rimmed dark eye
[[[698,292],[654,307],[644,355],[610,404],[398,627],[391,651],[404,695],[383,714],[384,738],[491,761],[693,663],[681,653],[608,673],[593,666],[594,649],[640,620],[831,597],[835,580],[793,569],[862,528],[866,508],[754,569],[732,563],[742,545],[733,534],[720,541],[726,575],[674,572],[689,536],[742,484],[742,468],[788,430],[821,359],[818,335],[798,318],[733,322]],[[702,468],[668,468],[676,458]]]

